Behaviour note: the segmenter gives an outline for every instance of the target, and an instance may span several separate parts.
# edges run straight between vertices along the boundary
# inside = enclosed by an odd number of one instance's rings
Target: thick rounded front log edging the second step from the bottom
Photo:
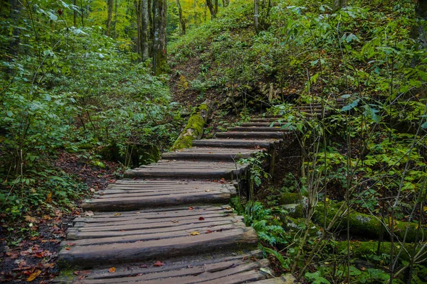
[[[194,255],[218,249],[236,247],[236,244],[255,245],[258,239],[253,228],[238,228],[215,234],[185,236],[158,241],[100,246],[71,246],[59,252],[58,263],[68,266],[92,267],[94,264],[129,263],[157,257]]]

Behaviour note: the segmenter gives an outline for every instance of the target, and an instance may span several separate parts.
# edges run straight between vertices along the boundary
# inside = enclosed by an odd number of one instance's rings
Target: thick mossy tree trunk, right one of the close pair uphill
[[[153,11],[153,73],[154,75],[160,75],[167,70],[167,0],[154,0]]]

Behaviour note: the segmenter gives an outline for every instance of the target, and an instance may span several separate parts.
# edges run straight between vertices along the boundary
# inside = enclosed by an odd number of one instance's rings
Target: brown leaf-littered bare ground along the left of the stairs
[[[101,169],[85,163],[83,158],[73,153],[60,151],[52,166],[74,175],[77,180],[88,185],[85,198],[102,190],[111,182],[115,182],[119,164],[102,161],[106,165]],[[70,220],[82,213],[81,200],[74,200],[75,207],[70,214],[64,214],[60,208],[48,212],[38,212],[34,209],[27,222],[15,226],[15,231],[0,231],[0,283],[28,283],[41,275],[43,280],[38,283],[49,283],[59,274],[56,261],[60,250],[60,241],[65,239],[65,231],[70,226]],[[38,234],[21,235],[19,228],[32,222],[32,231]],[[1,224],[0,228],[4,228]],[[36,236],[31,236],[36,235]],[[70,244],[72,246],[72,244]],[[40,278],[38,278],[40,279]]]

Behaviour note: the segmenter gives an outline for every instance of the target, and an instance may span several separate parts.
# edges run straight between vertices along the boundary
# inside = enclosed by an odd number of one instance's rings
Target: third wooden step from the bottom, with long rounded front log
[[[97,192],[97,197],[85,200],[83,209],[92,211],[126,211],[184,204],[228,203],[236,195],[236,188],[219,182],[193,182],[191,185],[149,187],[137,183],[111,185]]]

